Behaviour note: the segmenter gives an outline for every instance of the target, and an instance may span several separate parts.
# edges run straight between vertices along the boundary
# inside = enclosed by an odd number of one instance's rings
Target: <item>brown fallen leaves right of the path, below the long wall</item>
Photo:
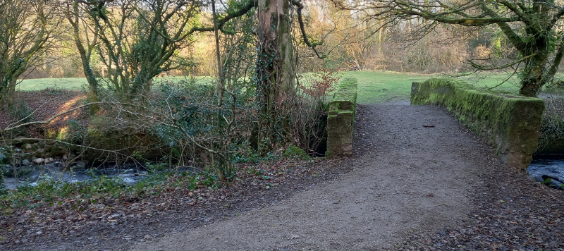
[[[469,221],[419,233],[405,250],[564,250],[564,192],[530,183],[508,166],[483,172]]]

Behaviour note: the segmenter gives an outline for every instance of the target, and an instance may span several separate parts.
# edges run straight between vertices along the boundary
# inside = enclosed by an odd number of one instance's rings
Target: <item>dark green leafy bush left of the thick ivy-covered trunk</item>
[[[214,86],[192,81],[164,83],[159,87],[163,99],[154,109],[168,112],[171,121],[154,125],[151,133],[171,148],[171,157],[176,162],[184,163],[183,158],[192,157],[195,152],[203,152],[202,158],[205,158],[208,149],[215,149],[218,151],[214,154],[216,166],[212,168],[223,170],[222,166],[233,166],[238,152],[249,149],[247,135],[233,132],[247,132],[252,128],[255,114],[254,104],[250,102],[254,93],[247,90],[246,84],[234,82],[231,94],[237,99],[226,92],[218,110],[218,93]],[[228,125],[231,119],[235,121]],[[211,164],[204,159],[202,162]],[[225,177],[233,177],[233,170],[227,168],[223,172]]]

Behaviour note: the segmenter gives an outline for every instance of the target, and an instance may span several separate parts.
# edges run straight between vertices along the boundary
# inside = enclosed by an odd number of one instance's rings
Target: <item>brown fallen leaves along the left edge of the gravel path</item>
[[[336,173],[336,163],[338,161],[281,159],[259,164],[240,164],[236,175],[238,179],[232,180],[228,186],[220,185],[217,189],[198,185],[190,190],[188,185],[183,185],[182,177],[173,176],[168,178],[168,185],[155,188],[157,190],[154,193],[136,195],[135,200],[132,200],[132,195],[120,195],[116,198],[91,197],[92,200],[56,198],[50,205],[41,204],[40,207],[25,211],[15,209],[12,214],[1,215],[0,235],[4,238],[0,239],[0,249],[14,246],[37,247],[37,243],[55,247],[59,243],[79,240],[103,243],[104,240],[99,235],[106,235],[108,231],[115,232],[114,237],[119,239],[113,245],[121,245],[124,239],[118,233],[125,230],[133,235],[128,239],[135,241],[145,238],[147,229],[152,229],[149,236],[154,237],[159,233],[155,233],[154,229],[177,226],[177,221],[188,221],[190,225],[201,226],[219,219],[228,219],[229,216],[259,205],[264,207],[265,202],[271,198],[276,198],[273,199],[274,203],[293,191],[307,189],[313,180],[318,183],[330,177],[327,173]],[[314,178],[312,174],[317,177]],[[168,225],[161,222],[165,219]],[[27,234],[38,231],[42,234]]]

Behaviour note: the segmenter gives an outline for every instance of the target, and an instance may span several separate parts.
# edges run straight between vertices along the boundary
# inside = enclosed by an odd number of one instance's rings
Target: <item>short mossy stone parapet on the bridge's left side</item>
[[[339,82],[329,102],[327,116],[327,152],[329,158],[353,155],[353,129],[357,106],[357,80],[345,78]]]

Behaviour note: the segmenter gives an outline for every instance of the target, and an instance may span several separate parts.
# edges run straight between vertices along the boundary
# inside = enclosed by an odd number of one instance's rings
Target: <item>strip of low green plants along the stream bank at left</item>
[[[267,154],[266,157],[239,157],[236,173],[230,182],[255,180],[262,183],[263,189],[269,189],[274,183],[281,183],[296,169],[305,171],[310,164],[319,160],[300,157],[295,152],[284,154]],[[273,171],[273,166],[283,168]],[[1,177],[1,173],[0,173]],[[222,183],[216,170],[204,169],[200,172],[183,171],[167,168],[165,164],[147,164],[147,176],[134,185],[127,185],[121,178],[99,176],[92,180],[70,183],[59,181],[56,177],[45,177],[34,184],[27,183],[16,189],[0,189],[0,216],[11,214],[15,209],[35,209],[51,207],[57,204],[96,204],[106,199],[136,197],[142,199],[149,196],[159,196],[161,192],[183,188],[195,190],[197,188],[216,190],[229,183]]]

